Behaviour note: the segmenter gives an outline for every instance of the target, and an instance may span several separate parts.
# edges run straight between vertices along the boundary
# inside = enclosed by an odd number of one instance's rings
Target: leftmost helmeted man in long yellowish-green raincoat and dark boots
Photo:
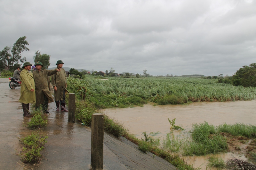
[[[23,70],[20,72],[20,99],[22,104],[23,116],[32,117],[29,114],[29,103],[36,103],[35,82],[32,72],[30,71],[32,64],[25,62],[23,64]],[[17,69],[18,70],[18,69]]]

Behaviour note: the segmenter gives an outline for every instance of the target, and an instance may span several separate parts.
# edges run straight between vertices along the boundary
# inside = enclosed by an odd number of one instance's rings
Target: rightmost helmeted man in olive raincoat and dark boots
[[[56,65],[57,69],[61,69],[63,62],[58,60]],[[54,89],[54,100],[56,103],[56,111],[60,111],[59,107],[61,105],[61,111],[68,112],[65,104],[65,93],[68,93],[67,88],[67,75],[65,70],[62,68],[59,72],[52,75],[52,86]]]

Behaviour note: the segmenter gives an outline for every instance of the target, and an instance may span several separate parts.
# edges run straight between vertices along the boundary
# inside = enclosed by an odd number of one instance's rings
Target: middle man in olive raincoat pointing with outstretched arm
[[[45,113],[49,113],[48,103],[53,102],[52,93],[50,91],[50,82],[48,76],[51,76],[61,69],[54,70],[43,70],[43,64],[38,61],[35,63],[36,70],[33,71],[33,76],[35,80],[36,87],[36,107],[39,107],[40,104],[43,105],[43,109]]]

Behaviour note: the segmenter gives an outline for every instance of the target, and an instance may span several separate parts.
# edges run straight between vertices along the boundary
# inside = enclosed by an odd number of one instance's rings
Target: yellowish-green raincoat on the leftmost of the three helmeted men
[[[36,93],[35,93],[35,82],[34,77],[31,71],[23,69],[20,72],[20,103],[28,104],[28,103],[36,103]],[[34,89],[34,92],[30,90]]]

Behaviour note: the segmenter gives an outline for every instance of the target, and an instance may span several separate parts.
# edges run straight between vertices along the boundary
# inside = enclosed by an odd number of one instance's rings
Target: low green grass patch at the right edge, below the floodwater
[[[230,133],[233,136],[244,136],[248,138],[256,138],[256,126],[254,125],[246,125],[244,123],[236,123],[236,124],[222,124],[217,130],[219,132]]]

